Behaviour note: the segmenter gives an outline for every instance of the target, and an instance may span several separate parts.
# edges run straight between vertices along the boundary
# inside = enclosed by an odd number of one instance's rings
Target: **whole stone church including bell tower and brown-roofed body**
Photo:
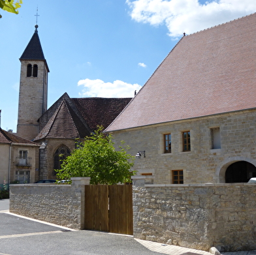
[[[61,159],[70,155],[97,125],[108,127],[131,98],[70,98],[64,93],[47,109],[49,68],[35,25],[20,57],[20,94],[17,135],[40,143],[39,179],[56,179]],[[59,155],[62,157],[59,157]]]

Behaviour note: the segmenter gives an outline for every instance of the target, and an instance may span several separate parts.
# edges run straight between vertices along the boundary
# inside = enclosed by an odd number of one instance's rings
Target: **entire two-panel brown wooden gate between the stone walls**
[[[133,235],[133,185],[86,185],[85,229]]]

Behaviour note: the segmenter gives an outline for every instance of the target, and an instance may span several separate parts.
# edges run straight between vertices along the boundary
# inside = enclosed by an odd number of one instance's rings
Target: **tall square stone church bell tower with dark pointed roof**
[[[35,25],[29,44],[20,57],[20,93],[17,135],[33,140],[39,133],[37,120],[47,110],[49,68],[42,52],[38,25]]]

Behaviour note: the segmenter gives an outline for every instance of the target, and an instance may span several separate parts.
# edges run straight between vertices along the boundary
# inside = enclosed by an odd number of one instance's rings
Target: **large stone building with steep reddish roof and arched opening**
[[[154,183],[256,176],[256,14],[185,35],[106,128]]]

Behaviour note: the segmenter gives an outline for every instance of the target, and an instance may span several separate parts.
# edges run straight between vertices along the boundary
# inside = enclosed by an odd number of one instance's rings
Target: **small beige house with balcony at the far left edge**
[[[0,184],[34,183],[39,174],[39,147],[0,128]]]

